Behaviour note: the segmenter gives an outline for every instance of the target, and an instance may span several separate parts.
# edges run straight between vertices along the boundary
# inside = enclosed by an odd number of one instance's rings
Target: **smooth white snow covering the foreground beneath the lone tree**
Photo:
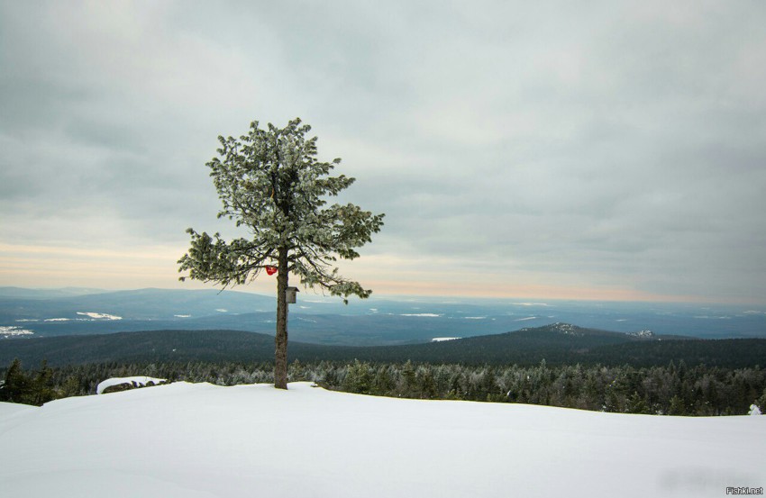
[[[766,417],[177,383],[0,403],[3,496],[726,496],[766,485]]]

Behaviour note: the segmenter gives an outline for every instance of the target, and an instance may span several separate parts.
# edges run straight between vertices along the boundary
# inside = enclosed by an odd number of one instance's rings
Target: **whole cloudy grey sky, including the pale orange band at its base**
[[[539,4],[539,5],[538,5]],[[766,304],[761,2],[0,0],[0,285],[178,282],[217,137],[300,117],[376,294]],[[260,276],[241,290],[271,293]]]

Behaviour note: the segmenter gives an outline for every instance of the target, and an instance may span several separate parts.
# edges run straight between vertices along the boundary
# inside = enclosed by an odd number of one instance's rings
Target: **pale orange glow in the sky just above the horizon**
[[[178,281],[177,260],[184,250],[171,246],[80,249],[0,243],[0,285],[109,290],[220,288],[201,282]],[[702,296],[650,294],[616,286],[567,285],[556,276],[520,272],[506,276],[487,269],[467,272],[458,268],[459,264],[447,258],[412,261],[377,255],[343,262],[341,273],[358,279],[362,286],[371,288],[375,296],[722,303]],[[276,286],[273,278],[263,274],[251,285],[237,286],[234,290],[272,294]],[[515,283],[508,283],[508,280]],[[541,284],[541,280],[556,284]]]

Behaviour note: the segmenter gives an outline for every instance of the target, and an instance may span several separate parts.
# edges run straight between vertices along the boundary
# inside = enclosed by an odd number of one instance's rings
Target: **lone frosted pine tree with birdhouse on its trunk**
[[[203,282],[225,287],[254,280],[266,268],[277,269],[277,335],[274,385],[287,389],[287,299],[289,275],[305,287],[348,297],[368,297],[372,291],[349,280],[333,267],[337,258],[359,257],[356,248],[371,241],[383,226],[383,214],[362,211],[355,204],[327,206],[328,196],[351,186],[354,178],[330,172],[340,164],[316,158],[316,137],[300,119],[283,129],[269,123],[266,130],[252,122],[239,139],[218,137],[218,158],[207,163],[223,202],[219,218],[247,227],[249,238],[230,241],[220,234],[188,229],[191,247],[178,260],[178,271]]]

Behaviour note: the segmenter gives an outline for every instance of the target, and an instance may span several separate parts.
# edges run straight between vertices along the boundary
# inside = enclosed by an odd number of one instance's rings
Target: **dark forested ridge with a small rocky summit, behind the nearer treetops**
[[[241,330],[153,330],[91,336],[0,340],[0,366],[14,358],[25,365],[47,359],[52,366],[125,361],[271,361],[274,338]],[[290,360],[463,364],[601,364],[664,366],[762,366],[766,340],[678,340],[652,334],[630,335],[583,329],[565,323],[504,334],[424,344],[333,347],[291,342]]]

